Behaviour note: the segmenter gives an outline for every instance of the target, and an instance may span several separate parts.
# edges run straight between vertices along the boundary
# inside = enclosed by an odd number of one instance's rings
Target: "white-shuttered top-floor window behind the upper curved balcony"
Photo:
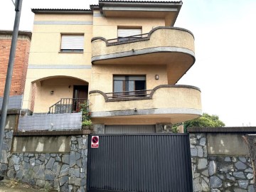
[[[142,28],[117,28],[117,38],[119,38],[118,41],[128,41],[141,37]]]

